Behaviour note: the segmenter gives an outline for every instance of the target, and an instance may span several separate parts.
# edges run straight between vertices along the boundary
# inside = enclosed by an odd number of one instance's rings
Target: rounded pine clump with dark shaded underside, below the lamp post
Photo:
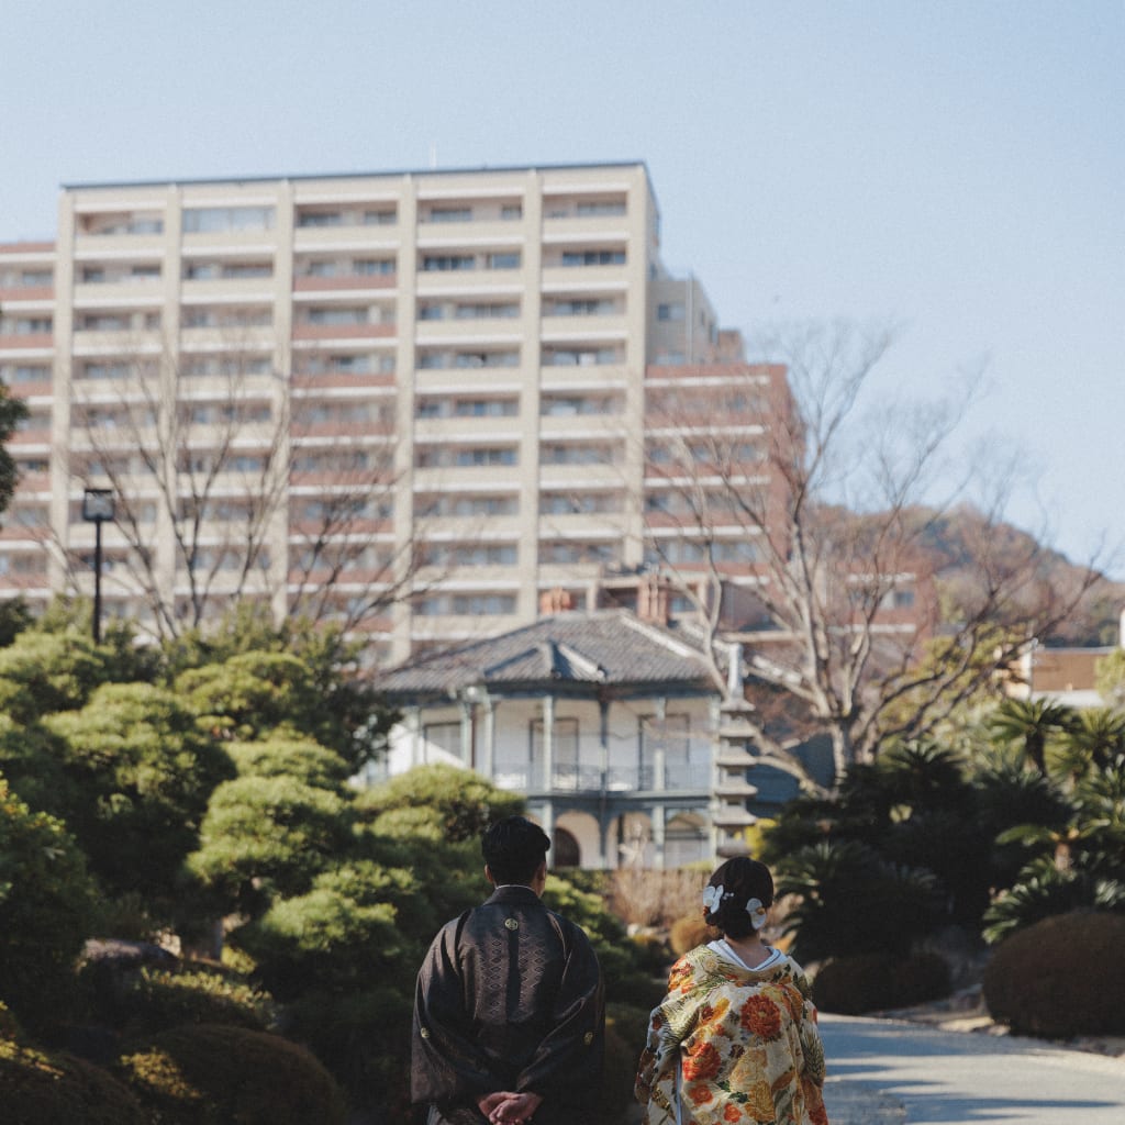
[[[68,826],[111,893],[168,898],[215,785],[234,773],[192,713],[147,684],[106,684],[81,711],[50,716],[74,780]]]

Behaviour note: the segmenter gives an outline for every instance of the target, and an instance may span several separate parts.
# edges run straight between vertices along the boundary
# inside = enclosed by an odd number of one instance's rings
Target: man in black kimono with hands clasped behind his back
[[[605,1010],[583,930],[540,901],[547,834],[523,817],[485,832],[482,906],[448,922],[418,972],[411,1094],[428,1125],[582,1125],[597,1098]]]

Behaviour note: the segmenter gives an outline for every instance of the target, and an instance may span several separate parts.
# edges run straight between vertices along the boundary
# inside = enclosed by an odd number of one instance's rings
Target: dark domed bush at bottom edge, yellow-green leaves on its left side
[[[122,1060],[162,1125],[341,1125],[343,1098],[305,1047],[218,1024],[178,1027]]]

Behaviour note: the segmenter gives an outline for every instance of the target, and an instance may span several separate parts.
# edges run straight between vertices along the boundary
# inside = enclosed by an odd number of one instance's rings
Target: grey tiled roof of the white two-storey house
[[[628,610],[603,610],[559,613],[402,665],[380,676],[377,687],[393,696],[418,698],[474,684],[501,692],[537,684],[708,691],[711,680],[699,649]]]

